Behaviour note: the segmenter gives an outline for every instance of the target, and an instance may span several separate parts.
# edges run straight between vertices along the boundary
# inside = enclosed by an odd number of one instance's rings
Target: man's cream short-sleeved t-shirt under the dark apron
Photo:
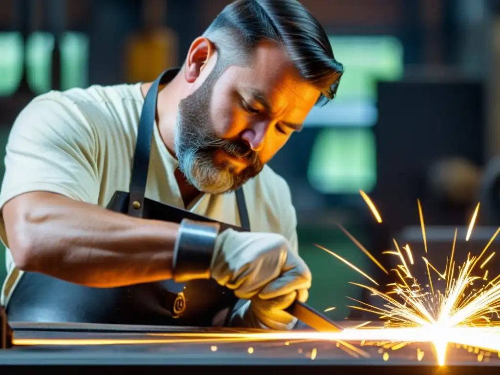
[[[143,104],[140,84],[51,91],[33,99],[15,120],[6,146],[0,208],[29,191],[50,191],[106,206],[116,190],[129,191],[133,152]],[[184,207],[174,177],[177,161],[154,126],[145,196],[218,221],[240,225],[234,193],[204,194]],[[297,250],[296,215],[283,178],[265,166],[243,186],[252,231],[281,233]],[[6,305],[22,271],[7,247]]]

